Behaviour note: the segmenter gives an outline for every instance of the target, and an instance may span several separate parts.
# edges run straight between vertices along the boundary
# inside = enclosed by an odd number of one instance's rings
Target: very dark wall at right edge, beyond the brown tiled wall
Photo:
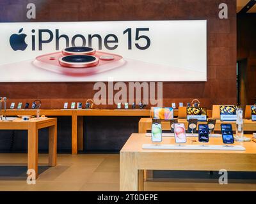
[[[256,102],[256,13],[237,18],[237,59],[247,62],[241,69],[241,103],[252,105]]]

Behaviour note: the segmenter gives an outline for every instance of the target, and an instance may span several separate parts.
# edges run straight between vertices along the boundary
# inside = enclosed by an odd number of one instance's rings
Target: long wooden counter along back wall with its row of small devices
[[[0,115],[3,115],[3,117],[7,117],[7,119],[8,117],[17,116],[29,119],[30,117],[35,117],[38,113],[40,114],[40,117],[71,117],[70,125],[72,127],[72,154],[77,154],[79,150],[84,149],[84,117],[138,117],[138,120],[140,120],[141,117],[150,116],[150,110],[145,109],[146,107],[142,103],[138,105],[132,104],[129,106],[129,109],[99,109],[97,108],[97,106],[94,105],[92,99],[86,100],[84,105],[82,102],[74,102],[74,108],[72,107],[72,103],[70,103],[69,105],[68,103],[64,103],[62,109],[42,109],[43,106],[41,105],[40,108],[36,108],[36,106],[33,105],[33,103],[31,106],[29,106],[29,103],[26,103],[25,106],[22,106],[20,105],[20,103],[17,103],[19,108],[17,106],[17,108],[13,107],[13,109],[7,109],[7,103],[4,104],[5,105],[3,105],[3,109],[0,108]],[[0,103],[0,105],[2,105],[2,103]],[[11,105],[13,106],[13,102],[11,103]],[[136,125],[138,125],[138,120],[136,121]]]

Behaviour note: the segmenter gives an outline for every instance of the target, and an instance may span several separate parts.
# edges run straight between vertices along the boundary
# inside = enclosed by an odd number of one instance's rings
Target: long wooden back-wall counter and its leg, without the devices
[[[4,111],[2,112],[4,113]],[[33,109],[6,110],[6,115],[36,115]],[[45,116],[70,116],[72,117],[72,154],[83,150],[83,116],[138,116],[150,117],[149,109],[40,109],[40,115]]]

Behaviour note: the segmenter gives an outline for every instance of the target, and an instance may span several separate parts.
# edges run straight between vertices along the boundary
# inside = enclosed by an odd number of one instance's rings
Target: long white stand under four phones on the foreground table
[[[142,149],[169,149],[169,150],[245,150],[241,145],[153,145],[144,144]]]

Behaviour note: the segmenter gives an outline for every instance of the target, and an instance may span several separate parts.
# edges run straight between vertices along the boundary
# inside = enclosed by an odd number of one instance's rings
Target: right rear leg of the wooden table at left
[[[49,127],[49,166],[57,164],[57,125]]]

